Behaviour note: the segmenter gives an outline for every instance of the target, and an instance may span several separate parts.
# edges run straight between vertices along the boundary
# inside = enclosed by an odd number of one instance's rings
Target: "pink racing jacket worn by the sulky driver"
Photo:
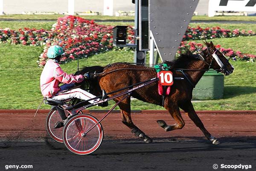
[[[83,75],[68,75],[61,69],[57,61],[49,59],[40,76],[41,93],[44,97],[49,98],[61,90],[60,83],[80,83],[83,80]]]

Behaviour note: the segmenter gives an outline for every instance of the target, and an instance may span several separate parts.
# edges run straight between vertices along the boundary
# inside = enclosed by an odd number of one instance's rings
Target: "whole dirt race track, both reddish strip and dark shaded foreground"
[[[6,165],[31,164],[33,169],[18,171],[212,171],[245,169],[220,168],[225,165],[252,165],[256,171],[256,111],[200,111],[207,130],[221,144],[214,146],[183,114],[182,130],[165,132],[156,120],[174,124],[164,111],[132,113],[138,128],[153,139],[144,144],[122,124],[119,113],[111,113],[102,121],[104,140],[101,147],[89,156],[70,153],[63,144],[49,139],[45,130],[47,110],[34,118],[35,110],[0,110],[0,171]],[[101,119],[104,113],[85,111]],[[70,160],[71,159],[71,160]],[[73,160],[72,160],[73,159]],[[16,170],[16,169],[8,169]]]

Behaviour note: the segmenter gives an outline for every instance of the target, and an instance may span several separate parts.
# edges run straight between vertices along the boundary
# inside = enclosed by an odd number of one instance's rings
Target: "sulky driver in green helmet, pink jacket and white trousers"
[[[82,100],[89,100],[95,98],[96,96],[80,88],[68,90],[71,87],[74,87],[75,83],[80,83],[81,81],[84,81],[84,78],[87,78],[87,75],[74,76],[68,75],[66,72],[64,72],[58,64],[62,55],[64,55],[64,51],[61,46],[53,45],[49,47],[47,51],[47,57],[49,58],[49,60],[45,64],[40,76],[40,87],[42,95],[46,98],[52,98],[59,101],[73,98],[78,98]],[[61,83],[65,84],[60,87],[59,84]],[[100,100],[101,99],[95,99],[89,102],[94,103]],[[108,101],[106,102],[108,103]],[[100,106],[107,106],[108,104],[106,102],[104,102],[104,104],[102,103]],[[61,115],[62,112],[59,113]],[[65,120],[66,116],[61,116],[61,118]],[[60,128],[62,126],[63,122],[55,124],[56,128]]]

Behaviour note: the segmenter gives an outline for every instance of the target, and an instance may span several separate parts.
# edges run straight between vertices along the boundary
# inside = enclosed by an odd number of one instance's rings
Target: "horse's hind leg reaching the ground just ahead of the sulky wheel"
[[[115,100],[116,102],[118,100]],[[140,137],[144,140],[145,143],[152,142],[152,139],[145,135],[145,133],[140,130],[137,126],[134,125],[134,123],[131,120],[131,99],[126,98],[122,102],[119,103],[119,107],[121,110],[121,116],[122,116],[122,123],[124,123],[126,126],[128,126],[131,129],[131,132],[134,133],[135,136]]]

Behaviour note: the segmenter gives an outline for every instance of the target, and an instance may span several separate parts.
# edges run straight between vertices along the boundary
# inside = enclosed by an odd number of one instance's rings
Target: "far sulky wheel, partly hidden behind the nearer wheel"
[[[65,114],[67,116],[67,111],[65,111]],[[54,129],[55,123],[61,120],[62,119],[58,113],[58,110],[54,110],[54,108],[52,108],[47,115],[46,130],[52,139],[54,139],[56,142],[63,143],[63,139],[62,139],[63,127]]]

